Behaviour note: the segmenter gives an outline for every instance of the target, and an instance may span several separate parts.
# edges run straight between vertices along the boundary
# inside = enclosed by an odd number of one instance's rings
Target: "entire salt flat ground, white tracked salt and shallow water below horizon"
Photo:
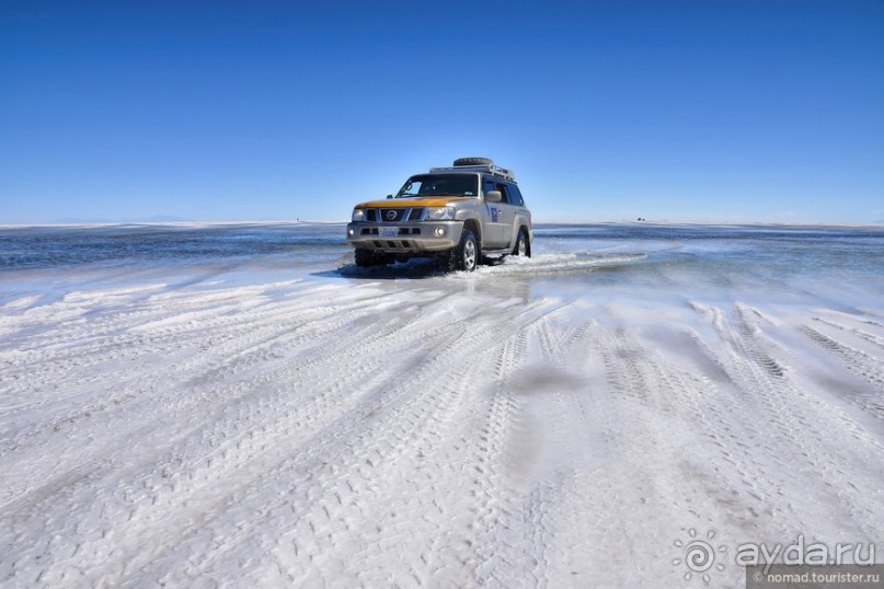
[[[882,538],[881,228],[536,231],[443,275],[0,230],[0,585],[676,586],[694,531],[734,587]]]

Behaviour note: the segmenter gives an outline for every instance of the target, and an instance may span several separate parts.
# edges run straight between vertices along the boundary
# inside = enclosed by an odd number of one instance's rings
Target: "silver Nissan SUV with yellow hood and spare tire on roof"
[[[411,176],[386,200],[360,203],[347,224],[357,266],[434,257],[472,272],[483,257],[531,255],[531,212],[510,170],[486,158]]]

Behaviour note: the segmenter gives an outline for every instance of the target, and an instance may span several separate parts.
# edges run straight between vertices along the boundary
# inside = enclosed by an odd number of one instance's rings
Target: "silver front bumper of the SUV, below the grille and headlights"
[[[441,252],[460,243],[462,221],[347,224],[347,243],[378,252]]]

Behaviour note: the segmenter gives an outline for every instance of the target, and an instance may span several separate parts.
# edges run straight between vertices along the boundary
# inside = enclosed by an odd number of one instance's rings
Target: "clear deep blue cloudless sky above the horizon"
[[[346,220],[462,155],[539,221],[884,220],[884,2],[0,0],[0,223]]]

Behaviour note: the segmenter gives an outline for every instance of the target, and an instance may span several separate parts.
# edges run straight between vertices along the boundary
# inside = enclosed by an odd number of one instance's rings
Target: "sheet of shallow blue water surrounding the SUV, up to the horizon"
[[[0,302],[141,282],[211,287],[299,277],[383,280],[397,289],[469,285],[525,299],[653,293],[865,308],[884,291],[884,228],[539,224],[530,259],[448,276],[422,259],[357,268],[342,223],[0,229]]]

